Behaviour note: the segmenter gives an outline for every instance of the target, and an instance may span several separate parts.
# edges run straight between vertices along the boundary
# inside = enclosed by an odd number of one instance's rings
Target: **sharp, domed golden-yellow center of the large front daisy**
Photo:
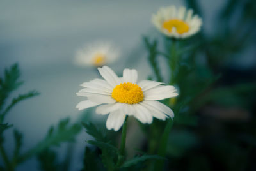
[[[120,103],[135,104],[143,101],[144,94],[139,85],[125,82],[116,85],[112,91],[112,98]]]

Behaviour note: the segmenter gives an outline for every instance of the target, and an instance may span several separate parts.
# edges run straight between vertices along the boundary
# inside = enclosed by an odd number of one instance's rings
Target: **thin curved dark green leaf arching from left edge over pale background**
[[[34,96],[38,96],[39,93],[37,91],[29,91],[26,94],[19,94],[19,96],[17,98],[13,98],[12,103],[10,105],[8,105],[8,107],[6,107],[6,109],[4,110],[4,112],[0,115],[0,123],[3,122],[3,119],[5,117],[5,115],[7,114],[7,112],[17,103],[19,103],[22,100],[25,100],[27,98],[32,98]]]

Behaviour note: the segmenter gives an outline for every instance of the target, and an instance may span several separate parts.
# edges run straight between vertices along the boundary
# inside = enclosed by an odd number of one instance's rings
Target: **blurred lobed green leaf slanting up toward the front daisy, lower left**
[[[47,133],[47,136],[39,142],[35,147],[24,153],[19,158],[19,162],[22,162],[31,156],[42,152],[44,149],[51,147],[52,145],[60,145],[61,142],[72,142],[74,141],[77,133],[80,132],[81,126],[77,123],[70,125],[69,119],[63,119],[58,124],[57,128],[51,127]]]

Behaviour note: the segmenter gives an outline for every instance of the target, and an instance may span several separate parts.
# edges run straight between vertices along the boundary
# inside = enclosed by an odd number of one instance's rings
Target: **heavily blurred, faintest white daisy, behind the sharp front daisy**
[[[104,66],[119,57],[119,50],[111,42],[96,41],[77,50],[75,63],[80,66]]]

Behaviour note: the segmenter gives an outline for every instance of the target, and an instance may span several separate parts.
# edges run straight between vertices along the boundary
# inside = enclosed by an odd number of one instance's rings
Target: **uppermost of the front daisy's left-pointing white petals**
[[[108,93],[111,93],[113,91],[113,87],[106,82],[106,80],[101,79],[95,79],[90,82],[84,82],[81,84],[83,87],[91,88],[91,89],[99,89],[102,91],[106,91]]]

